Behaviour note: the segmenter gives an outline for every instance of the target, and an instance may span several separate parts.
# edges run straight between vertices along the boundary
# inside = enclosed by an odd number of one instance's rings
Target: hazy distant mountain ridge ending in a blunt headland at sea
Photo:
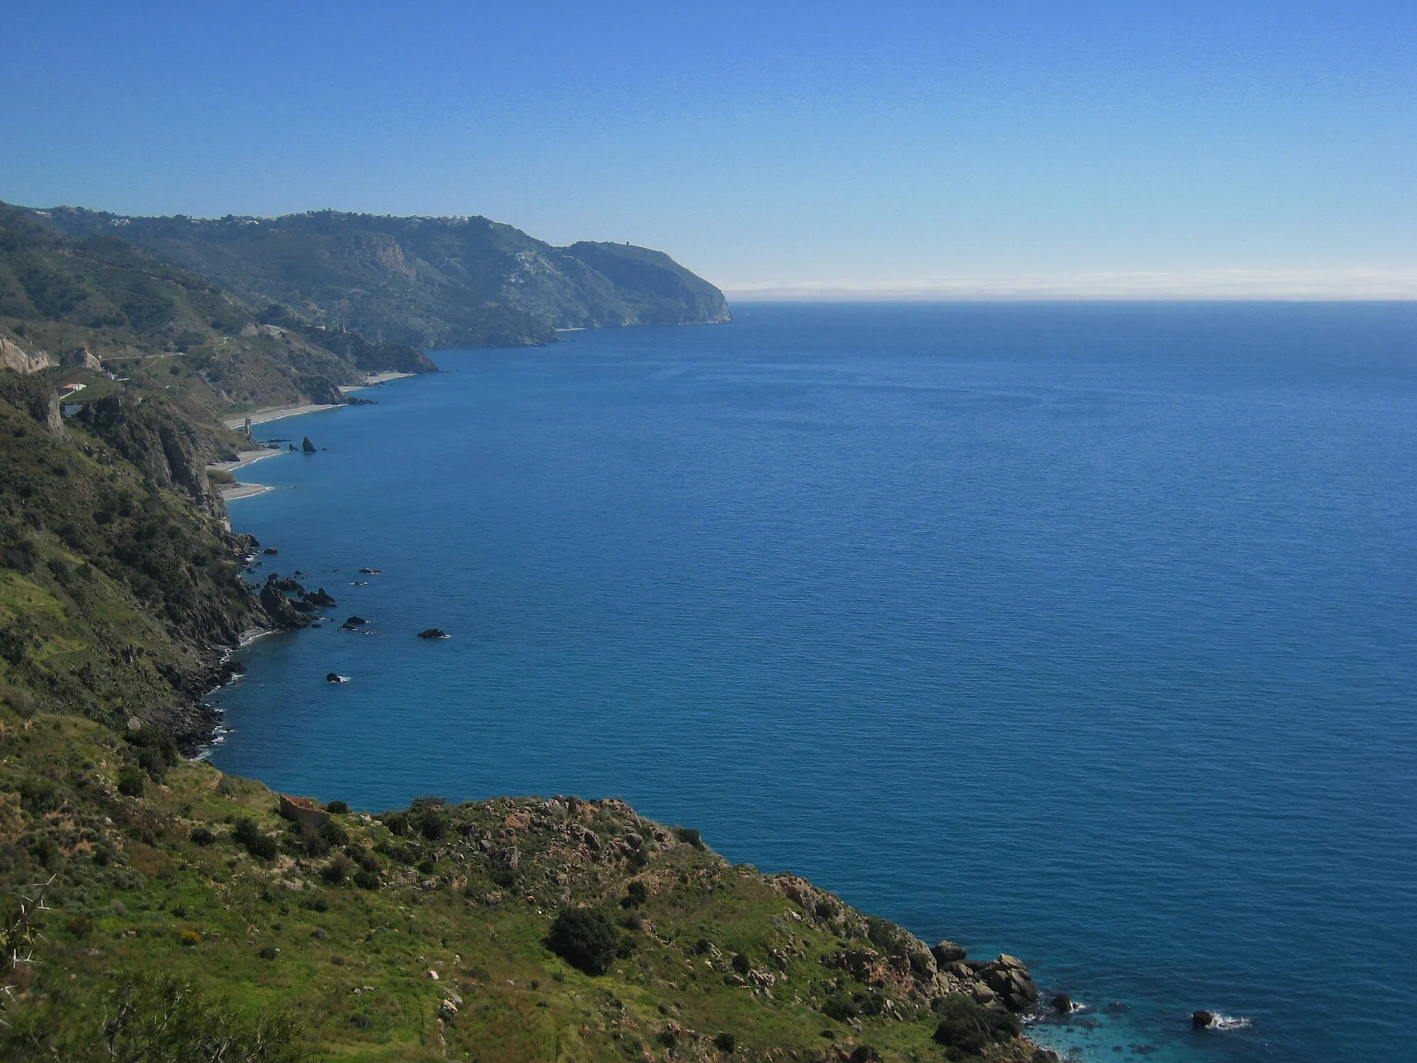
[[[723,292],[660,251],[558,248],[483,217],[26,213],[71,237],[120,237],[252,306],[374,342],[523,346],[557,329],[731,320]]]

